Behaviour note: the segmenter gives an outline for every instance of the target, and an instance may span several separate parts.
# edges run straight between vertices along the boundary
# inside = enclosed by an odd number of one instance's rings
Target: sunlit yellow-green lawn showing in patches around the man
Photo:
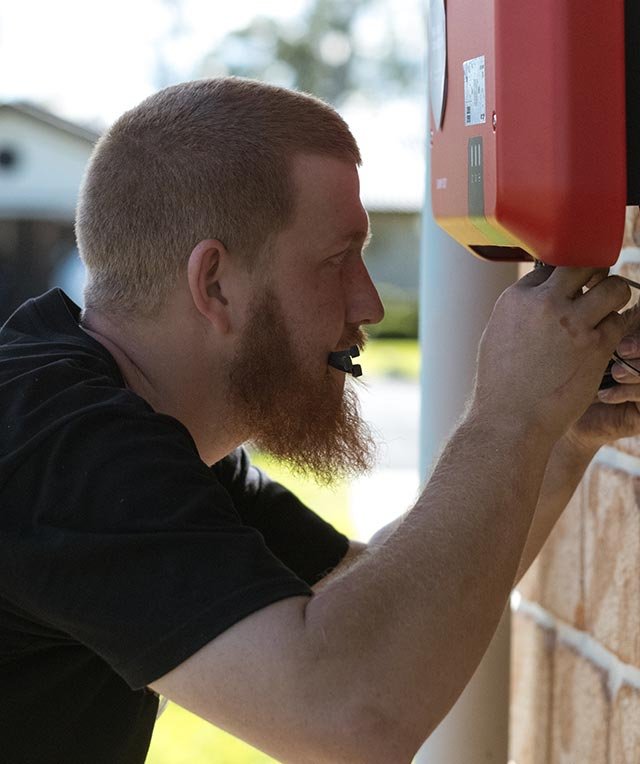
[[[417,379],[419,348],[415,340],[370,340],[362,363],[367,375]],[[274,480],[286,485],[321,517],[342,533],[353,535],[349,517],[349,487],[331,488],[292,475],[286,467],[263,454],[252,454],[253,463]],[[266,754],[238,740],[183,708],[169,703],[158,720],[147,764],[272,764]]]

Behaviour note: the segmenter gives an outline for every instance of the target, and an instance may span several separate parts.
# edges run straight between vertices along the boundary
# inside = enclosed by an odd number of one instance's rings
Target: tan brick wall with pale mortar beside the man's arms
[[[618,272],[640,280],[627,210]],[[512,597],[515,764],[640,764],[640,438],[601,449]]]

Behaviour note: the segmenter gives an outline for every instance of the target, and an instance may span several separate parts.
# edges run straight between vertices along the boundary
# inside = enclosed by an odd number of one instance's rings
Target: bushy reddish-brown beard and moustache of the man
[[[347,328],[341,348],[364,347]],[[266,290],[250,311],[230,371],[236,421],[257,448],[324,484],[371,469],[376,446],[362,419],[355,380],[325,373],[294,345],[277,298]],[[328,354],[327,354],[328,361]]]

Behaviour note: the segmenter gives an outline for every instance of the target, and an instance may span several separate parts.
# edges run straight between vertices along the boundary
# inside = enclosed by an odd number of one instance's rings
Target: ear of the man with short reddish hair
[[[228,261],[229,253],[221,241],[205,239],[196,244],[187,265],[187,279],[194,305],[224,334],[230,326],[228,300],[222,288]]]

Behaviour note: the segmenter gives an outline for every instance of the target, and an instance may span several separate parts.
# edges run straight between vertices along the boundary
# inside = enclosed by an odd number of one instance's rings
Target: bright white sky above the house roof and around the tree
[[[179,79],[258,13],[282,19],[306,0],[3,0],[0,101],[31,100],[69,119],[107,125],[157,89],[160,46]],[[365,20],[372,45],[391,22],[420,46],[420,0],[388,0]],[[386,10],[384,10],[386,6]],[[172,26],[179,34],[170,38]]]

